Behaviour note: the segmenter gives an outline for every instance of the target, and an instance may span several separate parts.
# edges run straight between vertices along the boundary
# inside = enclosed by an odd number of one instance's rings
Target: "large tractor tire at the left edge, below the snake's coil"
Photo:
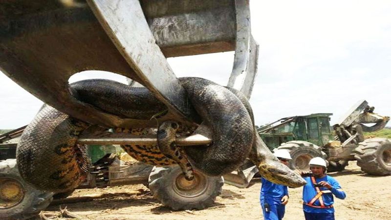
[[[0,161],[0,219],[32,218],[52,200],[53,193],[36,190],[23,181],[16,159]]]

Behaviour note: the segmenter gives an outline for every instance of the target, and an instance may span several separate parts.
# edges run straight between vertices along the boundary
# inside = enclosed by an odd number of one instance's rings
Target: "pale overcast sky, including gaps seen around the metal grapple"
[[[357,101],[391,116],[391,1],[250,0],[251,27],[260,44],[250,99],[256,125],[311,113],[337,123]],[[234,52],[169,58],[178,77],[226,85]],[[78,73],[69,82],[110,78]],[[28,124],[42,102],[0,73],[0,129]]]

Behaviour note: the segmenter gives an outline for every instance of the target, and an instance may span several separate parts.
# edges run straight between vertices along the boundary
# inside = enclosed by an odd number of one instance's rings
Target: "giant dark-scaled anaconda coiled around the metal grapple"
[[[262,176],[273,182],[291,187],[305,183],[282,165],[261,141],[244,95],[201,78],[187,77],[179,81],[203,123],[211,129],[213,143],[183,148],[175,146],[174,140],[162,141],[168,146],[123,145],[126,152],[140,161],[158,166],[189,161],[182,164],[182,169],[191,164],[209,176],[230,173],[249,157],[257,164]],[[79,81],[70,85],[70,91],[79,101],[122,117],[149,119],[165,110],[148,89],[110,80]],[[18,144],[17,160],[22,177],[38,189],[53,192],[77,187],[87,176],[88,159],[86,147],[76,142],[78,135],[89,126],[45,105],[24,130]],[[173,131],[176,131],[176,125],[174,127]],[[116,130],[133,132],[134,128]],[[167,130],[168,133],[173,131]],[[163,139],[175,135],[161,136]],[[163,147],[165,154],[160,151]],[[172,154],[167,153],[170,150]],[[191,177],[191,173],[188,175]]]

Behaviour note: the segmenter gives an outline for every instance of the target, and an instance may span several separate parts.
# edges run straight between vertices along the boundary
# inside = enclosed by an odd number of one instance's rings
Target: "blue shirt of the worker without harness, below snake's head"
[[[269,180],[262,177],[261,187],[261,204],[265,201],[269,205],[281,204],[283,196],[288,196],[288,187],[276,183],[272,183]]]

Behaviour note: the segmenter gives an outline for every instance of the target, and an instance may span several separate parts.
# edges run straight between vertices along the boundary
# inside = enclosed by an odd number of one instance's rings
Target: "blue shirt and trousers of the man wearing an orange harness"
[[[304,177],[304,179],[307,182],[303,188],[303,210],[305,220],[334,220],[334,207],[332,207],[332,204],[334,204],[333,195],[340,199],[346,198],[346,194],[341,190],[341,186],[337,180],[327,175],[322,178],[315,178],[316,183],[319,183],[320,181],[326,181],[332,186],[331,190],[328,190],[326,187],[319,187],[320,191],[324,191],[322,200],[324,206],[326,207],[321,208],[319,199],[317,199],[312,204],[312,207],[311,205],[308,205],[310,201],[318,194],[318,192],[312,183],[311,177]]]

